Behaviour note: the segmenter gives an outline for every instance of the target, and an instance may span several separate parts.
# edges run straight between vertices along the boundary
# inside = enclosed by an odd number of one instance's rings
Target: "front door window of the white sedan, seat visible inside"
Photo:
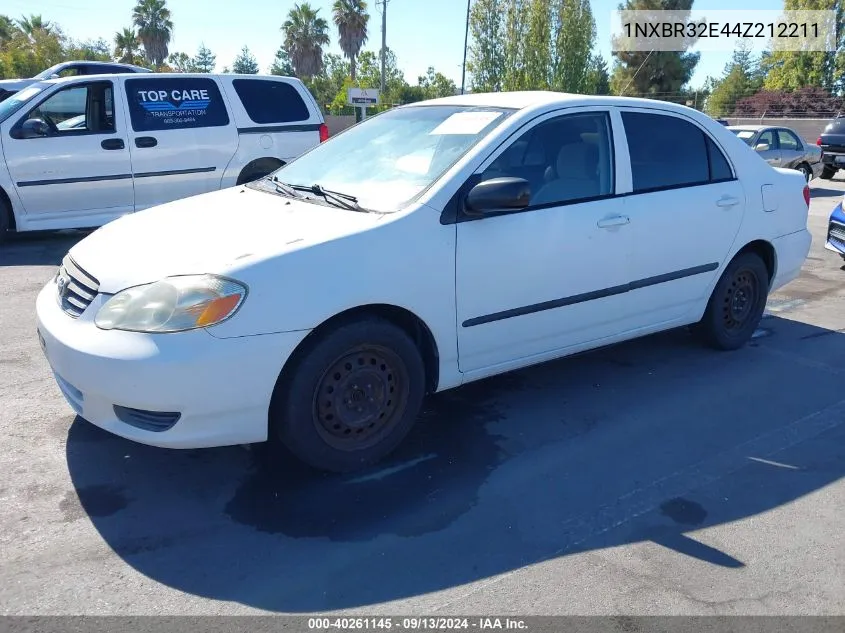
[[[514,141],[482,180],[524,178],[531,206],[565,204],[613,193],[613,150],[606,112],[544,121]]]

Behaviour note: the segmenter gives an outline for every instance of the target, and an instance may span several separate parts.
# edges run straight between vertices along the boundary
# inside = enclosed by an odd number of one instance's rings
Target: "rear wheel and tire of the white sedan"
[[[756,253],[741,253],[728,264],[695,330],[714,349],[745,345],[760,324],[769,296],[769,271]]]

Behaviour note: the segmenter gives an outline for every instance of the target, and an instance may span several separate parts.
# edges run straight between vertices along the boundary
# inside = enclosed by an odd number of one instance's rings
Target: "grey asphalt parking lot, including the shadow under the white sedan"
[[[840,174],[839,178],[842,178]],[[675,331],[432,397],[353,476],[75,418],[34,301],[77,234],[0,248],[3,614],[845,614],[845,181],[754,341]]]

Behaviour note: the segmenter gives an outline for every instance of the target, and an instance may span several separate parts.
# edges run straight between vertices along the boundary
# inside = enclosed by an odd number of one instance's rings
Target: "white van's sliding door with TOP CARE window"
[[[220,188],[238,135],[214,77],[126,75],[135,209]]]

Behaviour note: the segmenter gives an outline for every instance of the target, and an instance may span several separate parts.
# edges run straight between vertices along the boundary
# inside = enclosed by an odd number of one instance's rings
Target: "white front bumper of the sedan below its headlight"
[[[74,319],[60,308],[53,282],[36,300],[44,354],[79,416],[121,437],[166,448],[267,439],[276,379],[307,332],[219,339],[205,330],[105,331],[94,324],[104,301],[97,296]],[[126,413],[120,407],[151,413],[148,421],[160,412],[178,413],[178,421],[166,430],[139,428],[121,419]]]

